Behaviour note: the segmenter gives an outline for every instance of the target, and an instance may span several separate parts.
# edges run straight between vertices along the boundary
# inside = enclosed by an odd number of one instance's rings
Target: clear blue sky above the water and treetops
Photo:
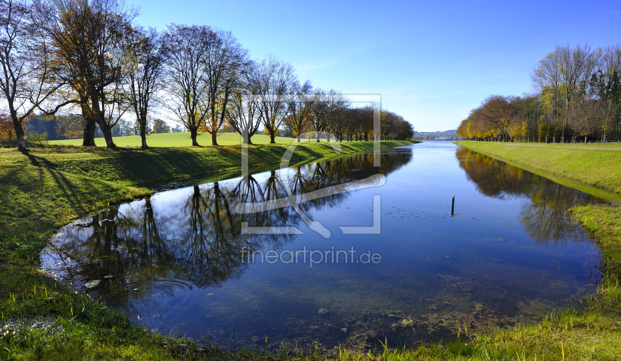
[[[303,81],[381,94],[417,131],[456,128],[490,94],[532,91],[555,45],[621,42],[621,1],[160,1],[140,24],[231,30],[254,58],[292,63]]]

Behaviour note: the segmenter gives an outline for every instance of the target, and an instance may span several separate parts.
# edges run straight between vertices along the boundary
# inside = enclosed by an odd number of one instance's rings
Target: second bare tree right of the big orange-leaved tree
[[[171,24],[164,38],[168,96],[162,104],[188,128],[192,145],[197,146],[196,136],[210,109],[205,61],[218,37],[208,26]]]

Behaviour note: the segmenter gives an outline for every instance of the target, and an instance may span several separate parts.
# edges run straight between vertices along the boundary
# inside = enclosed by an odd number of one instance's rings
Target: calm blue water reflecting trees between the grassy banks
[[[270,349],[413,345],[464,324],[535,321],[601,277],[597,247],[563,212],[603,200],[451,143],[384,151],[380,167],[373,160],[199,182],[111,207],[61,229],[44,267],[160,332]],[[309,194],[373,176],[378,185],[379,174],[381,186],[301,203],[330,238],[293,207],[236,212],[238,202],[283,198],[288,187]],[[381,233],[343,234],[339,227],[374,225],[374,195]],[[245,234],[242,222],[303,234]],[[305,247],[315,251],[312,267],[308,253],[296,255]],[[248,250],[262,253],[248,263]],[[270,250],[281,257],[261,262]]]

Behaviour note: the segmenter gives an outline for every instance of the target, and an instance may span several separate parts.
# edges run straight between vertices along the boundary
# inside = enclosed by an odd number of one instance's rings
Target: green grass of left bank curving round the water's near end
[[[384,143],[394,146],[401,143]],[[344,151],[369,150],[369,143],[343,143]],[[250,147],[252,161],[278,163],[284,146]],[[0,151],[0,313],[3,323],[47,320],[53,328],[0,330],[0,359],[24,360],[320,360],[322,355],[267,355],[247,350],[201,347],[175,335],[161,337],[134,326],[122,314],[47,277],[37,268],[45,239],[65,224],[107,202],[142,197],[136,187],[152,177],[234,171],[239,147],[161,148],[114,152],[96,149],[34,149],[24,155]],[[299,147],[294,161],[332,156],[328,145]],[[152,163],[152,164],[147,164]],[[93,168],[93,169],[91,169]],[[165,172],[155,176],[153,172]],[[118,174],[117,174],[118,173]],[[202,173],[204,174],[204,173]],[[224,174],[224,173],[222,173]],[[111,182],[110,180],[114,180]],[[603,209],[603,208],[602,208]],[[578,310],[546,316],[538,324],[472,334],[418,349],[367,353],[340,350],[338,360],[619,360],[621,289],[615,279],[621,244],[617,208],[574,210],[576,219],[601,239],[606,266],[599,295]],[[55,293],[56,292],[56,293]],[[11,326],[15,327],[15,326]]]

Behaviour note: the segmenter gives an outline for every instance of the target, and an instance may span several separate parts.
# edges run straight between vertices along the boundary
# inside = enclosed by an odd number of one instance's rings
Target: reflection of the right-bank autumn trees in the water
[[[520,218],[524,230],[538,244],[581,241],[584,239],[582,229],[568,221],[565,212],[577,204],[605,202],[467,148],[457,149],[456,156],[468,179],[487,197],[526,197],[530,200],[522,207]]]

